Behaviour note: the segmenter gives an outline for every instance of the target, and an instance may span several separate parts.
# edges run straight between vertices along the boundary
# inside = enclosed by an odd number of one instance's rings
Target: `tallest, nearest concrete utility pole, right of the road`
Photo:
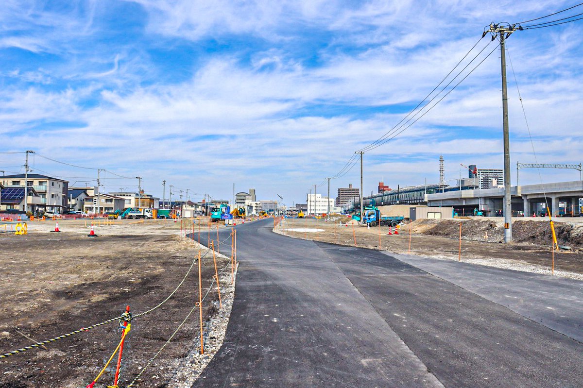
[[[522,27],[518,27],[522,29]],[[503,120],[503,136],[504,136],[504,242],[512,241],[512,197],[510,192],[510,131],[508,130],[508,91],[506,86],[506,52],[505,40],[516,31],[515,25],[507,24],[501,26],[500,24],[490,24],[490,28],[484,31],[482,37],[490,33],[492,40],[496,37],[500,38],[500,62],[502,69],[502,120]]]

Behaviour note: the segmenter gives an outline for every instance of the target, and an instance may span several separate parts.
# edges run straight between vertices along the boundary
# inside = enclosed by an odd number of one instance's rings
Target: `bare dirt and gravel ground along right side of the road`
[[[554,223],[559,245],[569,248],[554,252],[556,275],[583,279],[581,221],[583,219],[575,218]],[[502,218],[486,217],[417,220],[403,224],[398,235],[388,235],[389,227],[367,228],[356,221],[351,222],[347,217],[332,217],[331,221],[286,218],[276,228],[276,232],[332,244],[458,260],[460,224],[461,261],[535,273],[552,273],[552,234],[549,221],[545,218],[513,219],[514,242],[511,244],[501,244],[504,233]]]

